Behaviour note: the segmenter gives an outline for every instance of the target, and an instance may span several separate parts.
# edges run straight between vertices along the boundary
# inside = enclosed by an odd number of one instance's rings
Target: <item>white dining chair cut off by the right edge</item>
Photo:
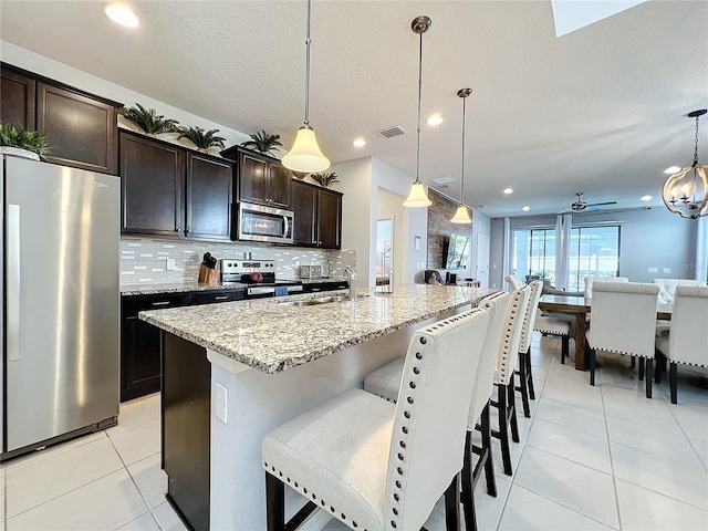
[[[670,363],[671,404],[676,404],[677,364],[708,366],[708,287],[676,287],[668,334],[662,334],[655,341],[657,353]]]

